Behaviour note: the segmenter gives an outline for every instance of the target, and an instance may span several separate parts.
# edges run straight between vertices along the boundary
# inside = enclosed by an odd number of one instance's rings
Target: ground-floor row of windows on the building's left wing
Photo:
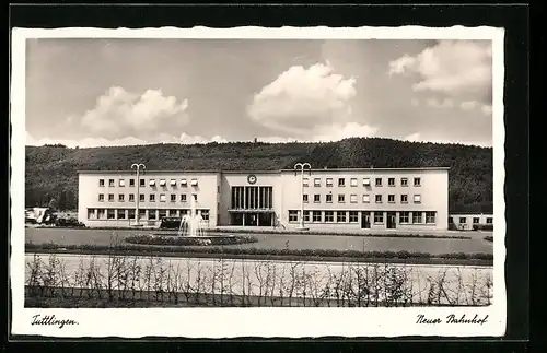
[[[196,210],[203,221],[209,221],[209,210]],[[182,217],[190,214],[190,210],[139,209],[141,220],[161,220],[163,217]],[[135,209],[88,209],[88,220],[135,220]]]

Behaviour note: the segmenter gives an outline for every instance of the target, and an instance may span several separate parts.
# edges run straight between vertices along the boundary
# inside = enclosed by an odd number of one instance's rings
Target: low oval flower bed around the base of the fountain
[[[126,237],[124,240],[129,244],[164,245],[164,246],[209,246],[209,245],[214,246],[214,245],[237,245],[237,244],[258,242],[256,237],[248,235],[187,237],[187,236],[173,236],[173,235],[161,235],[161,234],[130,235]]]

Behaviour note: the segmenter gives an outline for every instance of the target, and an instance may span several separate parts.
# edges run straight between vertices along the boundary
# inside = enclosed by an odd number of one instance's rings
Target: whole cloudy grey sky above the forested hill
[[[492,145],[490,40],[40,38],[26,144]]]

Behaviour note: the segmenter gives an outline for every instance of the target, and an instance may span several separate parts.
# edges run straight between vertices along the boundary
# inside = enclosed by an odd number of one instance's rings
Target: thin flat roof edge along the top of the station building
[[[409,167],[409,168],[312,168],[305,169],[311,172],[397,172],[397,170],[449,170],[450,167]],[[147,174],[279,174],[279,173],[294,173],[293,169],[275,169],[275,170],[222,170],[222,169],[203,169],[203,170],[152,170],[152,169],[141,169],[141,172]],[[300,169],[296,169],[300,170]],[[77,170],[78,174],[127,174],[136,173],[136,169],[125,169],[125,170]]]

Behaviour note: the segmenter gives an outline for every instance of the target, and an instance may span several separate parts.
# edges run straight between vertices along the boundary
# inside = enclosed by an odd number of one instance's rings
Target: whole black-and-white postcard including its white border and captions
[[[12,48],[13,331],[503,334],[503,30]]]

